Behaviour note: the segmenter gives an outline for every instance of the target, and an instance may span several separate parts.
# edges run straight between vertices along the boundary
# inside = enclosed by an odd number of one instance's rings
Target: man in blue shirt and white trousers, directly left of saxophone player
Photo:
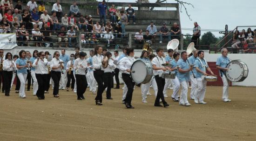
[[[60,59],[64,62],[64,68],[67,66],[67,62],[69,61],[69,56],[66,53],[65,49],[61,50],[61,56]],[[64,90],[67,86],[67,71],[63,70],[64,74],[61,74],[61,80],[60,80],[60,87],[59,89]]]

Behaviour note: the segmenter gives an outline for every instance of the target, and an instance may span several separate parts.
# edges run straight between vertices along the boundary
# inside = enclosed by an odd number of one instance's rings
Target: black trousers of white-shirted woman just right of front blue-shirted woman
[[[44,97],[44,90],[45,90],[45,85],[47,85],[47,74],[35,74],[37,83],[38,83],[38,90],[36,92],[36,96],[40,98],[45,98]]]

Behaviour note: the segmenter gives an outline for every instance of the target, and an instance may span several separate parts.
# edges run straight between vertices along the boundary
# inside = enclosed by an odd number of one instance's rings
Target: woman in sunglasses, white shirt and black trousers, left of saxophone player
[[[51,77],[54,81],[54,97],[59,97],[59,84],[61,80],[61,70],[64,68],[63,63],[59,64],[59,62],[62,62],[60,59],[60,53],[58,51],[54,52],[54,58],[50,62],[50,67],[52,69],[51,71]]]

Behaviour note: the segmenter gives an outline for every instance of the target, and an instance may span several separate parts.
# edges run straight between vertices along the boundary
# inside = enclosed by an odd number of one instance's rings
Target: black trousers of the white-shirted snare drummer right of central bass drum
[[[163,88],[165,85],[165,79],[162,77],[159,77],[159,75],[155,75],[155,81],[156,81],[157,88],[158,88],[157,95],[155,98],[155,104],[159,104],[160,98],[162,100],[162,103],[165,104],[166,101],[164,100],[164,96],[163,96]]]

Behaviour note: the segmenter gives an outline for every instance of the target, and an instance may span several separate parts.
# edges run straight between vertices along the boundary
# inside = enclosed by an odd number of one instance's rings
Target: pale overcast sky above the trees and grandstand
[[[107,0],[106,0],[107,1]],[[108,0],[109,2],[120,2],[120,0]],[[149,0],[155,2],[156,0]],[[192,34],[191,28],[194,27],[194,21],[197,21],[201,29],[225,30],[228,25],[229,30],[236,26],[256,26],[256,0],[183,0],[194,5],[194,8],[187,6],[191,15],[191,20],[184,8],[180,12],[182,34]],[[127,0],[135,2],[135,0]],[[168,3],[176,3],[175,0],[167,0]],[[166,8],[163,8],[166,9]],[[185,29],[184,29],[185,28]],[[186,28],[190,28],[189,30]],[[241,27],[247,30],[248,27]],[[252,27],[252,30],[256,27]],[[202,32],[202,34],[205,32]],[[223,34],[213,32],[216,37]]]

